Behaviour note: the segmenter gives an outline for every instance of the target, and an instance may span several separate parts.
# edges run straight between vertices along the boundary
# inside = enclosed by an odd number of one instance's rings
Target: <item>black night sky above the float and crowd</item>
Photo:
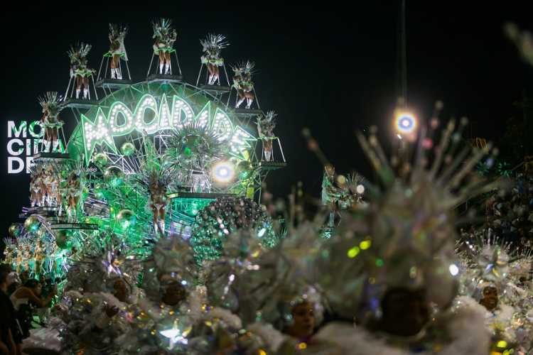
[[[505,120],[520,114],[512,103],[522,98],[523,89],[533,96],[533,67],[505,38],[502,25],[512,21],[533,31],[533,1],[499,1],[497,6],[464,2],[407,0],[408,104],[427,119],[441,100],[442,119],[467,116],[473,122],[471,136],[497,143]],[[276,170],[266,180],[277,197],[289,195],[298,181],[308,195],[320,197],[323,167],[306,146],[304,127],[311,129],[338,173],[368,172],[355,141],[357,129],[376,125],[384,146],[390,147],[398,1],[132,4],[43,1],[30,6],[18,1],[10,4],[18,9],[1,15],[0,230],[5,234],[9,224],[22,222],[18,213],[29,204],[29,175],[7,174],[6,122],[38,120],[42,114],[37,97],[46,91],[65,93],[70,45],[91,43],[87,58],[98,69],[109,49],[109,22],[129,23],[124,43],[134,82],[146,78],[153,44],[151,21],[159,17],[173,19],[178,32],[174,48],[185,82],[196,82],[202,55],[199,40],[208,33],[226,36],[230,46],[222,56],[227,63],[248,58],[256,63],[257,98],[263,111],[279,114],[274,132],[288,162],[288,168]],[[70,136],[75,126],[70,110],[61,119],[65,135]],[[276,154],[276,146],[274,150]]]

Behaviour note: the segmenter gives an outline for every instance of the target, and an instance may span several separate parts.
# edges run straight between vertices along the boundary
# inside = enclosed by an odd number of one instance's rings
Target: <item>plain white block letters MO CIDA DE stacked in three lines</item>
[[[26,173],[30,171],[28,168],[32,164],[33,155],[39,153],[38,148],[43,148],[44,130],[36,132],[36,126],[39,121],[33,121],[28,125],[27,121],[7,121],[7,173],[18,174],[22,173],[26,168]],[[58,139],[59,145],[55,152],[63,153],[65,146],[63,141]]]

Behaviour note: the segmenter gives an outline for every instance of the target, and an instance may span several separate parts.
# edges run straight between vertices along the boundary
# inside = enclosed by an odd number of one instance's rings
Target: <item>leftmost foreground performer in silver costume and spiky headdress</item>
[[[133,250],[111,231],[102,232],[78,263],[84,291],[64,312],[61,332],[65,354],[117,354],[117,338],[131,329],[140,315],[132,292],[140,272]]]

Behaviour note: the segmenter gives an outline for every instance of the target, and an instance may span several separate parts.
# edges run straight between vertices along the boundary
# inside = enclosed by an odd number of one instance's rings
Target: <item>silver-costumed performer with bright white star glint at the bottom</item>
[[[187,352],[188,329],[203,317],[205,288],[196,286],[198,265],[181,234],[161,236],[144,261],[141,315],[117,339],[123,354]]]

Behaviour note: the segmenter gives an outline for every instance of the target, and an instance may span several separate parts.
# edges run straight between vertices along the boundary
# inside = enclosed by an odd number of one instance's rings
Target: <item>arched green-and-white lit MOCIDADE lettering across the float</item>
[[[146,116],[150,120],[146,121]],[[121,118],[121,119],[119,119]],[[153,134],[166,129],[180,129],[184,124],[198,122],[220,136],[220,141],[230,142],[230,153],[237,158],[246,159],[246,151],[252,146],[247,141],[255,141],[242,127],[233,125],[227,114],[216,107],[212,112],[211,103],[195,114],[190,104],[185,99],[174,95],[172,104],[168,104],[166,95],[163,94],[161,104],[151,94],[145,94],[131,110],[123,102],[114,102],[107,115],[101,108],[97,109],[95,119],[88,119],[82,114],[82,131],[85,148],[85,163],[89,163],[95,146],[106,144],[114,153],[117,146],[114,137],[125,136],[133,131],[142,133],[146,131]]]

